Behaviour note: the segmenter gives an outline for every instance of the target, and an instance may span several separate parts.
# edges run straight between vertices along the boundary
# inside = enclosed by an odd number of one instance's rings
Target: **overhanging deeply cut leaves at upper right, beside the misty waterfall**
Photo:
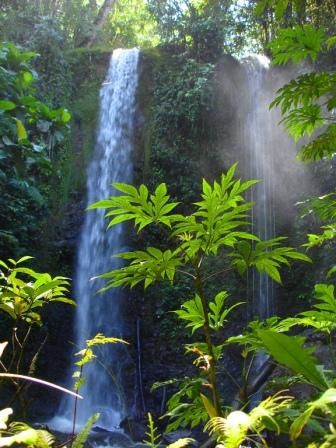
[[[281,30],[270,48],[274,63],[286,64],[307,58],[315,61],[326,45],[323,29],[305,25]],[[279,89],[271,103],[271,107],[280,107],[282,122],[296,141],[315,133],[300,149],[299,157],[304,161],[331,158],[335,152],[335,82],[333,72],[306,73]]]

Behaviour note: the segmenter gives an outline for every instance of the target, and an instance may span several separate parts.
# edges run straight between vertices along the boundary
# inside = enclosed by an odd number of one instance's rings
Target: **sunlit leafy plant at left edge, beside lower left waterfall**
[[[19,399],[24,413],[27,405],[24,391],[27,386],[22,385],[15,375],[34,373],[37,360],[47,340],[45,335],[34,351],[30,343],[34,327],[42,326],[41,313],[49,303],[75,304],[66,297],[68,279],[34,271],[25,265],[31,258],[26,256],[17,261],[9,259],[7,263],[0,260],[0,310],[7,316],[3,321],[6,322],[9,318],[11,322],[9,330],[11,344],[6,350],[6,360],[1,360],[0,365],[5,373],[14,374],[10,377],[15,388],[11,401]]]

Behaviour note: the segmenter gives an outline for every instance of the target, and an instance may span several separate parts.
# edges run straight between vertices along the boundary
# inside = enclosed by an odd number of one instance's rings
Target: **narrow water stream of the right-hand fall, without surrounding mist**
[[[261,240],[275,237],[274,217],[274,153],[273,138],[278,117],[268,110],[271,96],[267,92],[266,77],[269,60],[265,56],[251,56],[243,61],[247,77],[247,115],[243,127],[244,158],[250,179],[261,182],[251,189],[252,232]],[[265,319],[274,313],[274,283],[268,275],[254,271],[249,279],[251,313]]]

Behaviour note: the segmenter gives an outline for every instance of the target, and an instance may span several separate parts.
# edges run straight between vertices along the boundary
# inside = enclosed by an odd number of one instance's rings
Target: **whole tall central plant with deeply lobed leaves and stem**
[[[200,373],[198,378],[185,384],[183,394],[180,390],[175,398],[171,398],[172,406],[167,415],[177,419],[178,425],[192,425],[195,419],[202,421],[200,413],[222,416],[217,377],[223,350],[223,344],[218,344],[219,330],[238,304],[227,306],[226,291],[219,291],[210,299],[208,280],[222,276],[228,269],[238,268],[243,274],[253,266],[280,282],[281,266],[288,265],[292,259],[309,261],[306,255],[293,248],[281,246],[280,238],[261,242],[248,231],[248,213],[252,204],[245,201],[243,193],[256,181],[235,180],[235,170],[236,166],[232,166],[219,182],[212,185],[203,180],[201,199],[194,204],[195,211],[190,215],[176,213],[179,204],[170,200],[165,184],[160,184],[153,194],[145,185],[135,188],[114,184],[120,195],[89,207],[106,209],[109,227],[133,221],[140,232],[153,224],[159,225],[167,232],[169,241],[168,248],[147,247],[118,254],[128,264],[101,276],[107,280],[103,290],[117,286],[134,287],[139,283],[146,289],[159,280],[173,283],[178,276],[188,276],[193,281],[194,297],[186,300],[175,313],[191,333],[200,330],[203,333],[202,341],[188,344],[188,350],[196,355],[194,364]],[[210,257],[223,260],[223,269],[208,275],[205,266]]]

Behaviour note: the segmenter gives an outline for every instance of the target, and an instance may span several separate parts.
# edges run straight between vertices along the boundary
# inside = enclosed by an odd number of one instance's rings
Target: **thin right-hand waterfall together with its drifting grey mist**
[[[252,232],[261,240],[287,233],[309,182],[304,167],[295,160],[296,149],[276,109],[269,109],[277,90],[295,75],[294,69],[272,67],[265,56],[237,60],[225,56],[215,74],[214,119],[223,170],[238,163],[239,175],[260,182],[250,190]],[[218,124],[216,124],[216,122]],[[285,229],[285,230],[282,230]],[[276,285],[265,274],[249,272],[247,320],[276,313]]]

